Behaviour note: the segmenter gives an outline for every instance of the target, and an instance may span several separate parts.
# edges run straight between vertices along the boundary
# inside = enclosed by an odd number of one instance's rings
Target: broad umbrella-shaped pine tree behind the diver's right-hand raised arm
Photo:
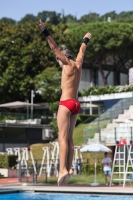
[[[86,32],[92,33],[92,39],[87,46],[84,65],[98,68],[104,85],[112,70],[125,66],[128,60],[133,60],[133,25],[127,23],[88,23],[69,30],[70,48],[76,54],[81,38]],[[111,64],[108,60],[111,59]],[[104,69],[108,74],[104,74]],[[125,69],[126,73],[127,70]]]

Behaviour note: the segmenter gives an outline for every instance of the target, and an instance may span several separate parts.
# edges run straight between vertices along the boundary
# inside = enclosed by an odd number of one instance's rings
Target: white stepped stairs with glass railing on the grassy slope
[[[130,120],[129,120],[130,118]],[[115,141],[121,138],[132,139],[133,127],[133,98],[122,99],[117,102],[112,108],[101,114],[87,127],[87,136],[89,132],[97,125],[97,132],[89,142],[102,142],[105,145],[115,145]]]

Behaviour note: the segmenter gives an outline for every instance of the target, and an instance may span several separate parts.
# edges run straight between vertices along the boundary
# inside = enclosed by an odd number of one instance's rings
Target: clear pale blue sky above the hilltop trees
[[[71,14],[78,19],[90,12],[104,15],[107,12],[133,10],[133,0],[0,0],[0,19],[2,17],[21,20],[26,14],[37,16],[42,11],[56,11]]]

